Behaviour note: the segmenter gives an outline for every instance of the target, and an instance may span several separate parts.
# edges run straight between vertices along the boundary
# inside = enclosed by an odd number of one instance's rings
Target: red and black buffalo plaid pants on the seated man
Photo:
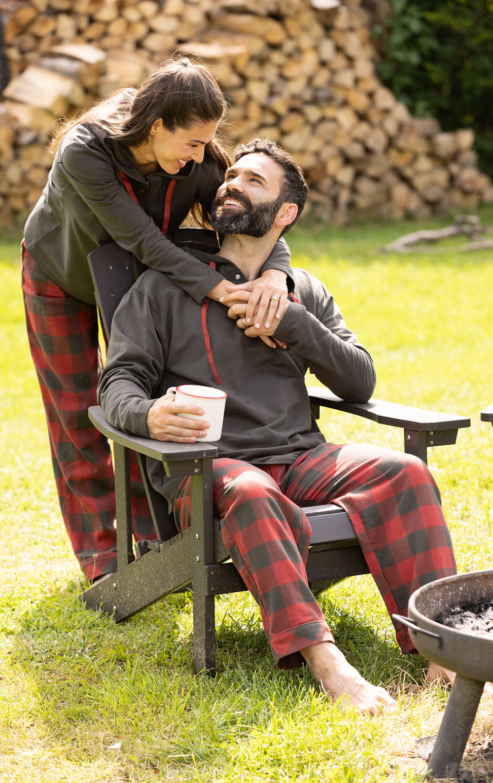
[[[407,615],[409,596],[455,574],[440,493],[417,457],[379,446],[323,443],[290,465],[213,460],[214,505],[225,547],[261,609],[275,662],[300,666],[300,650],[333,640],[305,572],[311,529],[297,503],[336,503],[351,518],[389,614]],[[190,524],[190,479],[174,502]],[[397,640],[416,651],[399,625]]]

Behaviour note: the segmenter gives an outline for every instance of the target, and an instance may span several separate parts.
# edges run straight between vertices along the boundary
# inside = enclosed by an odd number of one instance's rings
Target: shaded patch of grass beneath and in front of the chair
[[[248,594],[216,601],[213,680],[193,673],[190,594],[169,596],[117,625],[84,607],[84,587],[82,578],[51,586],[9,635],[23,702],[72,763],[106,759],[118,741],[124,779],[140,780],[148,769],[185,770],[192,762],[221,767],[250,731],[279,715],[299,714],[304,725],[307,705],[322,709],[306,667],[275,666]],[[364,617],[344,612],[328,593],[322,607],[336,643],[368,680],[390,689],[403,671],[408,680],[422,679],[418,656],[401,655]],[[25,708],[18,714],[15,720],[26,719]]]

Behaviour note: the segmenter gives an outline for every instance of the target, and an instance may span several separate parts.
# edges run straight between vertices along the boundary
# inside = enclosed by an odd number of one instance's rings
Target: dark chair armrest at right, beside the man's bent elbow
[[[470,427],[471,420],[457,416],[455,413],[437,413],[436,410],[423,410],[396,402],[385,402],[380,399],[369,399],[368,402],[346,402],[336,397],[329,389],[308,386],[311,404],[322,405],[334,410],[344,410],[365,419],[371,419],[378,424],[389,424],[391,427],[401,427],[418,432],[435,430],[456,430],[460,427]],[[493,406],[491,406],[493,408]],[[487,409],[490,410],[490,409]]]

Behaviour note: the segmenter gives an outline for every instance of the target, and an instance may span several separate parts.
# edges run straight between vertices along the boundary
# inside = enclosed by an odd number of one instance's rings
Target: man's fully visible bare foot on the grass
[[[300,653],[326,697],[339,702],[340,709],[351,706],[363,715],[379,715],[396,708],[397,702],[387,691],[364,680],[333,642],[312,644]]]

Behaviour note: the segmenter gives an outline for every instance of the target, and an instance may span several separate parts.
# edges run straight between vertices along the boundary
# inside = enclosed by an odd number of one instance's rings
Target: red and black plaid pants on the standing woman
[[[27,334],[45,404],[53,471],[70,543],[88,579],[117,570],[110,445],[88,418],[101,372],[98,316],[22,249]],[[131,464],[135,539],[155,538],[139,466]]]

